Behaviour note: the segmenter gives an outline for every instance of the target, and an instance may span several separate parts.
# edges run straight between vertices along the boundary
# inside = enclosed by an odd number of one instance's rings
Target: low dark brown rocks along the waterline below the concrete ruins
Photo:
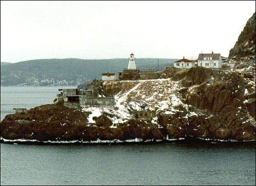
[[[6,115],[1,122],[1,137],[37,141],[96,141],[113,139],[161,139],[156,125],[137,120],[112,128],[112,121],[105,114],[94,117],[89,124],[88,112],[81,112],[61,105],[42,105],[28,113]]]

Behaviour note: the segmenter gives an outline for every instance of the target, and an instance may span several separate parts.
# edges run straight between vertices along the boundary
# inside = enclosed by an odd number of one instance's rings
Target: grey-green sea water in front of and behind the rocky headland
[[[58,88],[1,87],[1,120],[52,103]],[[6,184],[255,185],[255,144],[1,144]]]

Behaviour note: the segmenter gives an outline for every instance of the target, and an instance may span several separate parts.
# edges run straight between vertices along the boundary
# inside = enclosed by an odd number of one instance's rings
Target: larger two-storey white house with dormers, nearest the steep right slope
[[[198,56],[198,66],[203,66],[206,68],[221,68],[221,54],[199,54]]]

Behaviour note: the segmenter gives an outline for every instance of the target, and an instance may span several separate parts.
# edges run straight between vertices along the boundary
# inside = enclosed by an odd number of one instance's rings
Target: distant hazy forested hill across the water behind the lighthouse
[[[159,59],[159,69],[177,59]],[[1,66],[1,86],[63,86],[101,78],[102,73],[121,72],[128,59],[37,59]],[[2,65],[2,64],[1,64]],[[137,58],[138,69],[157,69],[157,58]]]

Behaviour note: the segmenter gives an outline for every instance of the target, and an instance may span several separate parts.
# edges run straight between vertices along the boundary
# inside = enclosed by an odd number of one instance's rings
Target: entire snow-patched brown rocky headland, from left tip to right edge
[[[115,109],[68,109],[42,105],[9,114],[1,123],[5,139],[38,141],[121,141],[140,138],[255,139],[255,76],[204,67],[167,67],[165,79],[103,82]],[[151,121],[133,111],[154,112]]]

